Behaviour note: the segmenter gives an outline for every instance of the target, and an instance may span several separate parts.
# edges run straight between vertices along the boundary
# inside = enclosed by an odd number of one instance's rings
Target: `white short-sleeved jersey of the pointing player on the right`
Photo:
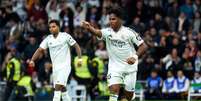
[[[134,44],[140,46],[144,41],[138,33],[122,26],[118,32],[112,28],[102,29],[102,37],[106,42],[109,55],[109,70],[111,71],[137,71],[138,60],[129,65],[126,60],[136,54]]]

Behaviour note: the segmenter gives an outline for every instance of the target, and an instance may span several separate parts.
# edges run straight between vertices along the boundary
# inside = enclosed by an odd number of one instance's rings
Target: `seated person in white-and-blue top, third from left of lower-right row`
[[[186,99],[188,94],[188,89],[190,86],[189,79],[184,75],[182,70],[177,71],[176,78],[176,93],[179,99]]]

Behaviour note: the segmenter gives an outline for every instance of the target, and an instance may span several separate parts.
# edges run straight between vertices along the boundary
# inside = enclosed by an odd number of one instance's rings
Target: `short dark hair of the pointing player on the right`
[[[111,9],[109,9],[108,14],[114,14],[118,18],[123,19],[122,8],[119,6],[114,6]]]

